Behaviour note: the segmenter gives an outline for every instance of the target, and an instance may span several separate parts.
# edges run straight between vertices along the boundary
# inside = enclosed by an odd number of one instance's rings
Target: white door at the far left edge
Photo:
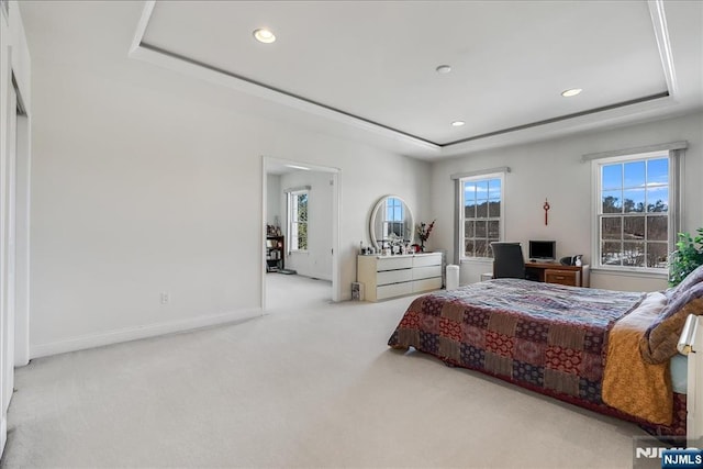
[[[0,448],[4,448],[8,427],[8,407],[14,387],[14,193],[16,150],[16,93],[8,86],[5,147],[0,157]]]

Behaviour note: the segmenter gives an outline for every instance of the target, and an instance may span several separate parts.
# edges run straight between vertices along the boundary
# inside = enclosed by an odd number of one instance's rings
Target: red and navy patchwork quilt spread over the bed
[[[606,344],[615,322],[644,297],[494,279],[415,299],[388,345],[625,416],[602,400]]]

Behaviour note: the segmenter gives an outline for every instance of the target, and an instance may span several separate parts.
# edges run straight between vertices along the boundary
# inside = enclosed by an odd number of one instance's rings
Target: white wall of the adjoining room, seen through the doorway
[[[281,223],[287,224],[287,189],[310,186],[308,199],[308,250],[287,254],[286,268],[301,276],[332,280],[332,201],[333,175],[320,171],[295,171],[281,176],[279,200]],[[286,249],[290,252],[290,234],[286,226]]]

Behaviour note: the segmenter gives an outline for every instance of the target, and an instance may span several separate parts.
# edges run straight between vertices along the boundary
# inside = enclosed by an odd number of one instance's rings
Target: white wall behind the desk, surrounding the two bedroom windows
[[[659,143],[688,141],[684,183],[684,231],[703,225],[703,114],[623,126],[479,152],[462,158],[437,163],[432,170],[433,204],[437,215],[435,247],[448,249],[454,257],[454,181],[456,172],[509,166],[505,176],[505,238],[527,245],[529,239],[556,239],[557,256],[584,254],[591,260],[591,165],[581,163],[590,153],[634,148]],[[549,224],[544,224],[543,204],[549,200]],[[490,263],[465,263],[461,283],[479,281],[481,272],[490,272]],[[663,278],[592,272],[591,287],[616,290],[658,290],[666,288]]]

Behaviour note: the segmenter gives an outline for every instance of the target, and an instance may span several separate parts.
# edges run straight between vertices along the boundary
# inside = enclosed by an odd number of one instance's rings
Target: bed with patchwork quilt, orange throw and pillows
[[[671,372],[685,375],[678,338],[702,313],[703,268],[651,293],[495,279],[416,298],[388,345],[684,436],[685,377]]]

